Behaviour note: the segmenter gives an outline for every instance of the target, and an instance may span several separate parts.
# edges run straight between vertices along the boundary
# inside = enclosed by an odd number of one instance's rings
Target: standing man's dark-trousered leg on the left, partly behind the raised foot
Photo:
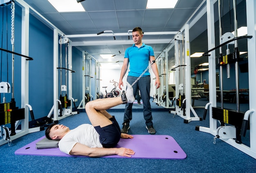
[[[133,82],[137,80],[137,77],[128,76],[127,82],[131,85]],[[133,95],[135,97],[136,91],[138,88],[138,83],[136,82],[133,86]],[[132,120],[132,104],[133,103],[127,103],[124,109],[124,122],[123,122],[123,128],[121,129],[121,133],[128,133],[128,130],[130,129],[130,120]]]

